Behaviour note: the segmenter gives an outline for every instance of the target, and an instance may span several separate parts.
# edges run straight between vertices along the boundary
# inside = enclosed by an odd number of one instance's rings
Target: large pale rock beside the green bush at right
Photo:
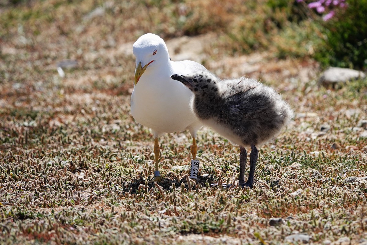
[[[365,78],[366,74],[348,68],[329,67],[321,74],[320,83],[323,85],[334,85],[335,83],[345,83],[346,81]]]

